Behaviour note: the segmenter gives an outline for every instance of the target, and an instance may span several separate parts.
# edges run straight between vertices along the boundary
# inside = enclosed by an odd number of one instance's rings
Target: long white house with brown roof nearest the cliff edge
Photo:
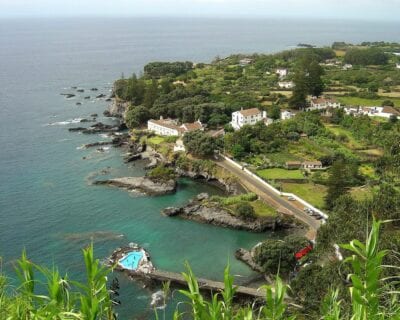
[[[204,130],[204,127],[200,120],[179,126],[177,120],[160,117],[159,120],[150,119],[147,121],[147,130],[153,131],[160,136],[179,136],[184,135],[186,132]]]

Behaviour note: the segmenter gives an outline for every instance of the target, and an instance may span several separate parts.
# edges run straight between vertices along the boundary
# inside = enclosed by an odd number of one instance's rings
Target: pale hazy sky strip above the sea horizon
[[[0,0],[0,16],[212,16],[400,21],[400,0]]]

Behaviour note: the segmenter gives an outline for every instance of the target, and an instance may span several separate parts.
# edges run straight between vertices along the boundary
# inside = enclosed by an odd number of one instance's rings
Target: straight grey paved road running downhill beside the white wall
[[[310,227],[311,231],[311,238],[314,238],[315,232],[318,230],[320,226],[320,221],[314,219],[313,217],[309,216],[303,210],[297,208],[294,205],[294,201],[287,200],[286,197],[279,196],[275,192],[273,192],[270,188],[265,186],[263,183],[252,177],[247,172],[239,169],[235,165],[231,164],[226,160],[219,160],[216,163],[223,167],[224,169],[230,171],[235,176],[240,179],[240,182],[248,188],[250,191],[257,194],[261,199],[269,203],[274,208],[278,209],[280,212],[295,216],[297,219],[303,221]]]

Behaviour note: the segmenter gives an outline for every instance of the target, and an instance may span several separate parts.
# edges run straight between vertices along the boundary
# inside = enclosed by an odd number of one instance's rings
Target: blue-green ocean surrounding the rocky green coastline
[[[94,242],[103,259],[129,242],[143,245],[154,264],[182,271],[185,261],[201,277],[221,279],[230,262],[240,278],[254,275],[234,258],[274,236],[221,229],[166,218],[160,210],[184,204],[200,192],[219,191],[183,179],[178,192],[145,197],[91,186],[96,177],[142,175],[123,163],[121,150],[82,150],[106,139],[68,132],[79,118],[107,107],[121,74],[140,74],[150,61],[208,62],[232,53],[269,53],[297,43],[400,41],[400,23],[276,19],[69,18],[0,20],[0,256],[12,264],[25,248],[36,263],[57,265],[82,277],[81,248]],[[60,93],[85,90],[73,99]],[[76,92],[75,92],[76,93]],[[90,95],[90,100],[83,97]],[[76,105],[81,102],[82,105]],[[75,119],[75,120],[74,120]],[[91,240],[93,239],[93,240]],[[151,319],[151,290],[122,275],[121,319]],[[168,305],[167,313],[175,308]]]

